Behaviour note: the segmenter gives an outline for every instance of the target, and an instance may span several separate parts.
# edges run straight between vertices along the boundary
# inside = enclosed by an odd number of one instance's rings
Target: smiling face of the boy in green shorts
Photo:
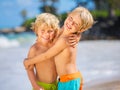
[[[39,26],[37,33],[38,38],[44,43],[51,42],[55,37],[55,30],[53,30],[51,27],[48,27],[46,24]]]

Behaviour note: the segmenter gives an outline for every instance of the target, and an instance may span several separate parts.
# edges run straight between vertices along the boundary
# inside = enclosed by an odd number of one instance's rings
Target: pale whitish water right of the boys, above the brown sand
[[[77,65],[88,85],[120,81],[120,41],[82,41],[78,46]],[[91,83],[93,82],[93,83]]]

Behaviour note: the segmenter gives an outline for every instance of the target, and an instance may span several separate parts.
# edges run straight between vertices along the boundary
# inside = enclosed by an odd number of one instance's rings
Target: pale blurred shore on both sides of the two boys
[[[30,45],[0,48],[1,90],[32,90],[23,59]],[[84,78],[83,90],[120,90],[120,41],[81,41],[77,66]]]

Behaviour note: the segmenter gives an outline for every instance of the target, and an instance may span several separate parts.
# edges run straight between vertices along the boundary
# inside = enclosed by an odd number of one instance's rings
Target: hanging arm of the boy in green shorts
[[[28,58],[31,58],[35,54],[35,50],[34,50],[34,47],[30,49],[29,53],[28,53]],[[37,85],[37,78],[35,76],[35,72],[34,72],[34,65],[32,65],[33,68],[31,69],[27,69],[27,75],[28,75],[28,78],[33,86],[33,88],[35,90],[40,90],[40,86]]]

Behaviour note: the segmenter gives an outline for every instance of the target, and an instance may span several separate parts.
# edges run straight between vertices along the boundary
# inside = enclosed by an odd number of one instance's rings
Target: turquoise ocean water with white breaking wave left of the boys
[[[0,48],[27,46],[34,43],[35,38],[32,32],[0,34]]]

